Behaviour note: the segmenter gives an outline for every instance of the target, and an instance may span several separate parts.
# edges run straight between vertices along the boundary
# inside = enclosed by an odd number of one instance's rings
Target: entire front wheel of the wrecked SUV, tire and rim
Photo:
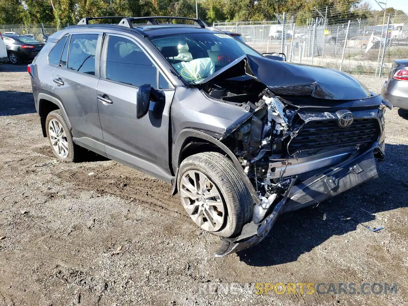
[[[191,155],[183,160],[178,173],[180,200],[195,224],[205,231],[233,237],[251,221],[251,195],[234,164],[224,155]]]

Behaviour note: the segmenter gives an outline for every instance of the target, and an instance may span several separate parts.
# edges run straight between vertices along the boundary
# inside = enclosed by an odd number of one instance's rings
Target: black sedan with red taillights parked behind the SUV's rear
[[[4,35],[3,38],[9,61],[14,65],[33,60],[44,47],[43,42],[24,35]]]

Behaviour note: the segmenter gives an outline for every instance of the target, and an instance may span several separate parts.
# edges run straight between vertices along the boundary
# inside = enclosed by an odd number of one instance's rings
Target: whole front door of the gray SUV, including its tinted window
[[[148,111],[137,119],[137,88],[142,84],[157,88],[160,72],[131,38],[106,35],[103,45],[106,57],[101,59],[96,95],[112,102],[98,101],[106,153],[169,182],[169,109],[174,90],[163,91],[166,101],[161,118],[154,118]],[[160,80],[166,88],[171,86],[162,76]],[[150,109],[154,103],[151,101]]]

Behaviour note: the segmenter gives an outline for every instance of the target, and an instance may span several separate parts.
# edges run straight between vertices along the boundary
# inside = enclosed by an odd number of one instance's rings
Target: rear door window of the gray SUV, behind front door
[[[95,75],[98,34],[74,34],[68,51],[68,69]]]

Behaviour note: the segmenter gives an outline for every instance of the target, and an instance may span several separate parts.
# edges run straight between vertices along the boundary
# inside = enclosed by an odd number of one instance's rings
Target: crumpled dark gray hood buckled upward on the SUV
[[[281,62],[248,54],[200,84],[245,74],[262,82],[276,95],[310,95],[332,100],[360,100],[372,95],[358,80],[334,69]]]

